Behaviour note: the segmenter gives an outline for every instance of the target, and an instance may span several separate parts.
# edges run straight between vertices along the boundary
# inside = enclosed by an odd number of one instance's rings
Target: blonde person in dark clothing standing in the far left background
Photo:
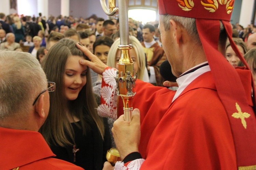
[[[15,35],[15,42],[19,43],[20,41],[24,40],[24,35],[25,35],[25,29],[20,22],[19,17],[13,17],[14,24],[12,24],[13,32]]]

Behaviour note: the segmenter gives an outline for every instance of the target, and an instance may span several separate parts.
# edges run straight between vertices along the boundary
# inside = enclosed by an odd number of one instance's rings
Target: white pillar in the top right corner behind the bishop
[[[251,24],[254,0],[243,0],[241,5],[239,24],[243,27]]]

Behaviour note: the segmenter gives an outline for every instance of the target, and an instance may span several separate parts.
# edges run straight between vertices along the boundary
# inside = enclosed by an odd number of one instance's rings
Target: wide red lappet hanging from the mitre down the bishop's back
[[[241,127],[243,127],[241,119],[239,121],[232,117],[233,113],[238,112],[236,103],[240,106],[242,112],[247,112],[251,116],[255,116],[255,114],[253,109],[248,105],[245,90],[243,89],[243,85],[237,71],[218,51],[217,44],[219,29],[217,30],[216,28],[219,28],[219,21],[196,19],[196,24],[205,55],[212,70],[218,96],[225,107],[232,128],[232,135],[235,141],[234,143],[237,154],[237,164],[238,166],[256,165],[256,161],[254,160],[256,148],[251,148],[252,146],[250,145],[244,145],[245,138],[248,139],[249,143],[256,141],[256,122],[254,119],[246,119],[246,123],[250,123],[250,128],[255,129],[252,133],[250,130],[245,128],[241,129]],[[226,27],[227,32],[229,32],[231,30],[230,24],[230,28],[227,26],[227,21],[223,21],[223,24]],[[205,27],[205,25],[208,27]],[[209,32],[211,32],[211,36],[209,36]],[[233,49],[238,52],[238,49],[234,44]],[[212,54],[216,55],[212,57]],[[241,61],[244,61],[244,59],[241,59]],[[249,70],[248,74],[250,75]],[[250,79],[251,77],[249,77],[247,81],[250,81]],[[243,130],[243,133],[240,132],[241,130]]]

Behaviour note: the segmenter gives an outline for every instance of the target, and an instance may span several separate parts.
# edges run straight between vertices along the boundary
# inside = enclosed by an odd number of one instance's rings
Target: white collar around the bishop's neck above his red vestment
[[[195,67],[193,68],[190,68],[188,71],[190,71],[191,69],[194,69],[200,65],[203,65],[203,64],[206,64],[208,63],[208,61],[205,61],[201,64],[198,64],[196,65]],[[186,71],[186,72],[188,72]],[[173,99],[172,99],[172,102],[177,98],[179,97],[179,95],[183,92],[183,90],[188,86],[188,84],[190,84],[193,80],[195,80],[198,76],[202,75],[203,73],[206,73],[206,72],[209,72],[211,71],[210,69],[210,66],[209,65],[206,65],[206,66],[203,66],[201,68],[198,68],[196,71],[192,72],[192,73],[188,73],[188,74],[185,74],[184,76],[181,76],[179,78],[177,78],[177,83],[179,85],[179,88],[178,90],[176,91]],[[185,73],[186,73],[185,72]],[[184,73],[183,73],[184,74]]]

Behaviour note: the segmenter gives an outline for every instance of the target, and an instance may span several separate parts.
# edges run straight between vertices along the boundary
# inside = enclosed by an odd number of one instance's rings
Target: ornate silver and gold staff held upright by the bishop
[[[101,6],[106,15],[115,15],[119,12],[119,31],[120,31],[120,45],[121,50],[120,60],[118,62],[118,84],[117,93],[122,98],[124,104],[124,119],[130,122],[132,119],[132,99],[135,95],[134,86],[137,79],[137,73],[134,75],[133,61],[131,59],[129,50],[129,26],[128,26],[128,2],[127,0],[118,0],[118,8],[113,6],[114,0],[109,0],[110,12],[107,10],[105,0],[101,0]]]

